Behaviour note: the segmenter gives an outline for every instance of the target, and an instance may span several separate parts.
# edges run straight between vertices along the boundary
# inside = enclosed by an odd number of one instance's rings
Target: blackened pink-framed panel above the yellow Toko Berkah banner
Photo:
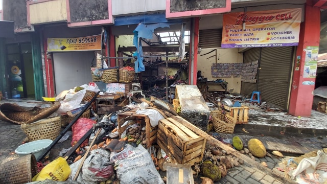
[[[69,1],[71,22],[84,22],[108,19],[108,0]]]

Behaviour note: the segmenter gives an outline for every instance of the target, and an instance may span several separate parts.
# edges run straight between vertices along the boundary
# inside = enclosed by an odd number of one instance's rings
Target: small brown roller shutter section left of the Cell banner
[[[199,30],[199,48],[220,48],[222,29]]]

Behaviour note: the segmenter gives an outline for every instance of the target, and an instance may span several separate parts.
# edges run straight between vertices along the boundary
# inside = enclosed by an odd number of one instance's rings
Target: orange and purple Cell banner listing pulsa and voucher
[[[298,45],[300,23],[300,8],[224,14],[221,48]]]

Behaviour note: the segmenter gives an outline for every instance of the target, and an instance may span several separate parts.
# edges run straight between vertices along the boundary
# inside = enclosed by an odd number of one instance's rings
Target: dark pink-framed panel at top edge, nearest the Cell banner
[[[226,0],[171,0],[170,2],[171,13],[225,7]]]

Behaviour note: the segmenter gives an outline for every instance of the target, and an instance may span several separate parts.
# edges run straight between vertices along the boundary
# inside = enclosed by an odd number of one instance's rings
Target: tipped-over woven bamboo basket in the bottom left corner
[[[33,154],[20,156],[1,165],[0,183],[21,184],[32,182],[36,169],[36,159]]]

